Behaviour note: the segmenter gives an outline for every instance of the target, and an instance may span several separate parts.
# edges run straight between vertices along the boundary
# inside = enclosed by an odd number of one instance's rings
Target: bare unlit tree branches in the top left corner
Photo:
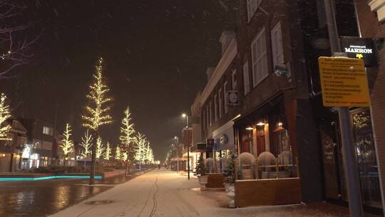
[[[26,8],[14,0],[0,0],[0,79],[11,79],[11,71],[18,66],[28,64],[33,56],[29,47],[39,39],[19,39],[27,24],[12,24],[11,19]],[[17,38],[17,39],[16,39]]]

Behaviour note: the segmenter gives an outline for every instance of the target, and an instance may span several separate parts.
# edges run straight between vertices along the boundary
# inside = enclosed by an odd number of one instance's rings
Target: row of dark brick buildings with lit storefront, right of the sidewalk
[[[361,4],[371,13],[366,1]],[[360,16],[365,7],[356,8]],[[263,153],[277,160],[277,173],[259,165],[259,177],[255,178],[298,178],[299,190],[293,194],[298,194],[300,201],[346,204],[338,114],[322,106],[319,85],[317,60],[331,56],[324,2],[241,0],[239,9],[236,32],[222,34],[222,58],[214,70],[207,70],[207,85],[200,96],[202,141],[215,139],[215,158],[222,156],[221,137],[225,135],[230,138],[229,149],[255,158]],[[340,36],[364,33],[357,28],[354,1],[337,0],[335,9]],[[381,24],[371,28],[377,30],[365,31],[379,34]],[[384,97],[376,91],[380,81],[381,76],[369,76],[373,116],[382,120],[380,101]],[[373,130],[371,124],[359,125],[370,120],[370,111],[351,108],[351,120],[363,203],[366,210],[381,212],[379,173],[373,158],[376,150],[369,142]],[[233,136],[228,136],[229,132]],[[381,136],[376,137],[379,146]]]

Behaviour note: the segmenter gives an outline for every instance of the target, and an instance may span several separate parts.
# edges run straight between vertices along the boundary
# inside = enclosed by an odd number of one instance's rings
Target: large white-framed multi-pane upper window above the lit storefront
[[[267,72],[267,54],[265,28],[252,41],[252,81],[257,86],[269,74]]]

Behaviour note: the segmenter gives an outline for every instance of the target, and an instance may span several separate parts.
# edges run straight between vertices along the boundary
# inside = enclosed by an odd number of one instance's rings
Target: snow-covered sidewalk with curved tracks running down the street
[[[195,177],[154,170],[52,216],[349,216],[326,203],[230,209],[224,191],[198,189]]]

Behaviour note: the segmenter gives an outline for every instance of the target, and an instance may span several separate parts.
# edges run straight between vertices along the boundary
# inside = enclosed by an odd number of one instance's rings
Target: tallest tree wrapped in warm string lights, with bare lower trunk
[[[86,114],[82,116],[83,126],[98,133],[99,127],[112,123],[112,118],[109,114],[111,107],[108,104],[112,99],[107,96],[108,86],[106,86],[102,75],[103,71],[103,59],[98,60],[98,64],[95,66],[95,74],[93,75],[93,84],[91,84],[90,92],[87,94],[88,105],[86,106]],[[94,138],[97,136],[94,135]],[[91,178],[90,184],[94,183],[95,176],[95,164],[96,164],[96,145],[92,146],[92,163],[91,163]]]

